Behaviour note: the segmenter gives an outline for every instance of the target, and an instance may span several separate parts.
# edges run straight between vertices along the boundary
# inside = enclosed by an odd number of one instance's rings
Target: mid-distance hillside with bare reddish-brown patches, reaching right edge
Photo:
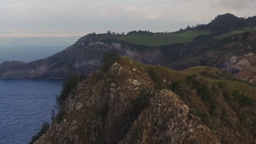
[[[255,33],[256,31],[251,31],[225,38],[209,49],[201,49],[182,61],[170,63],[166,67],[183,70],[206,65],[227,70],[242,80],[255,83]]]

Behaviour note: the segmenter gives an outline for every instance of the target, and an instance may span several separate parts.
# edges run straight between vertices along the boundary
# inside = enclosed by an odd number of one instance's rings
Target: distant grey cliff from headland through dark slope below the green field
[[[103,53],[115,50],[123,56],[129,56],[145,64],[166,65],[181,61],[184,57],[199,50],[205,44],[171,44],[162,47],[133,45],[102,37],[85,36],[74,45],[48,58],[23,63],[19,61],[0,64],[0,78],[43,78],[68,75],[66,69],[72,64],[76,73],[91,74],[101,63]]]

